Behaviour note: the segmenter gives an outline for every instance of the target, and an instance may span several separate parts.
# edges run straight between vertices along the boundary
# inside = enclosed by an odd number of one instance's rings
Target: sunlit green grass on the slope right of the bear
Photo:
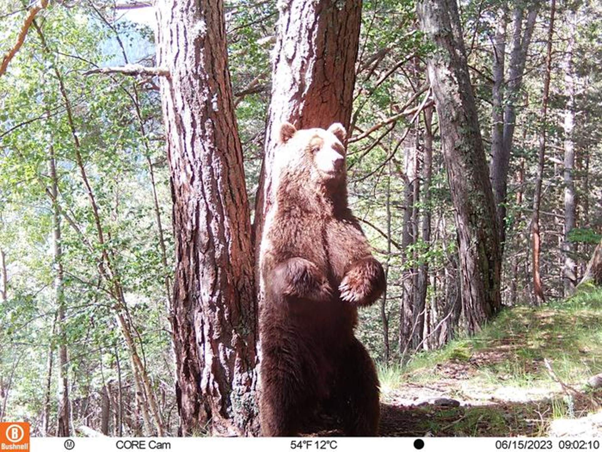
[[[602,372],[602,289],[588,287],[538,308],[504,309],[476,336],[415,354],[403,368],[382,366],[379,375],[393,391],[408,381],[440,381],[449,377],[446,366],[464,363],[470,379],[483,385],[557,388],[544,359],[571,384]]]

